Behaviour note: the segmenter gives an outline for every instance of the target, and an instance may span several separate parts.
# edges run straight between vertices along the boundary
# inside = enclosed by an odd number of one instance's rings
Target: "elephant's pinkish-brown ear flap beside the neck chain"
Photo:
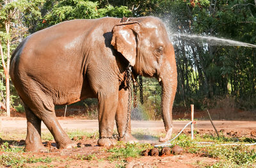
[[[138,22],[124,22],[113,27],[111,45],[114,46],[131,64],[135,65],[137,54],[137,36],[140,30]]]

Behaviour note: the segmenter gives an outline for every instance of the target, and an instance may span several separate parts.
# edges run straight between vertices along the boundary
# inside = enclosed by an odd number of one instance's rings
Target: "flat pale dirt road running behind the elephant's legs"
[[[3,132],[26,132],[26,118],[6,118],[0,117],[0,129]],[[85,118],[58,118],[60,125],[65,130],[84,130],[86,132],[96,132],[99,130],[99,123],[95,119],[85,119]],[[173,121],[174,132],[178,132],[189,121]],[[213,121],[214,125],[219,132],[223,134],[237,134],[237,136],[243,135],[254,135],[256,132],[256,121],[225,121],[218,120]],[[164,132],[163,121],[131,121],[132,131],[136,130],[146,130],[146,132]],[[115,127],[116,128],[116,127]],[[210,121],[196,121],[194,128],[198,132],[212,132],[214,133],[214,128]],[[42,123],[42,130],[47,130],[44,123]],[[190,127],[185,129],[188,132]]]

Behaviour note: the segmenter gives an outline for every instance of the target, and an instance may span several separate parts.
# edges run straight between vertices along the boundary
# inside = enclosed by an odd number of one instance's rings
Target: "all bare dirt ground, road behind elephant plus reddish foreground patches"
[[[86,132],[97,132],[99,124],[97,120],[88,120],[84,118],[58,118],[60,125],[66,130],[83,130]],[[177,134],[189,121],[173,121],[174,132]],[[218,131],[226,135],[236,135],[237,137],[256,137],[256,121],[214,121]],[[188,126],[189,127],[189,126]],[[201,134],[214,134],[210,121],[196,121],[195,129]],[[26,118],[0,118],[1,134],[10,133],[26,133]],[[42,124],[42,130],[47,128]],[[163,121],[132,121],[132,131],[144,132],[142,139],[139,142],[149,142],[158,144],[157,139],[148,138],[147,133],[157,132],[164,133]],[[190,128],[185,129],[185,133],[189,133]],[[136,137],[136,135],[134,135]],[[21,139],[17,139],[19,142]],[[110,154],[106,152],[106,148],[97,146],[97,139],[80,139],[76,141],[80,143],[80,148],[73,149],[56,149],[54,141],[45,142],[51,144],[49,153],[24,153],[23,155],[33,155],[36,157],[54,157],[58,160],[52,161],[51,164],[26,164],[28,167],[37,167],[41,165],[54,167],[121,167],[120,162],[109,162],[104,159]],[[79,159],[79,156],[90,155],[97,159]],[[62,160],[60,162],[60,160]],[[204,165],[212,165],[218,160],[214,158],[200,157],[190,153],[183,153],[182,155],[172,155],[166,157],[140,157],[127,158],[126,167],[202,167]],[[124,164],[123,164],[124,165]]]

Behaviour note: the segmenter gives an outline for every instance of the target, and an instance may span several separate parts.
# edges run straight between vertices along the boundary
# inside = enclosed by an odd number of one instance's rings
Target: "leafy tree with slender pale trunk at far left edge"
[[[15,44],[27,33],[28,29],[22,23],[24,13],[29,11],[40,14],[36,9],[38,10],[37,6],[41,3],[40,0],[5,0],[0,3],[0,53],[5,77],[7,116],[10,116],[10,53]]]

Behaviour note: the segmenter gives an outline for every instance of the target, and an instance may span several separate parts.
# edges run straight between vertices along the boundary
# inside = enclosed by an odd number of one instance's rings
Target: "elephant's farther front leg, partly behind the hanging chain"
[[[134,142],[136,139],[131,134],[131,114],[127,115],[129,90],[123,88],[118,92],[118,107],[116,110],[116,128],[119,134],[119,141]],[[130,107],[131,109],[131,107]],[[126,130],[126,132],[125,132]]]

